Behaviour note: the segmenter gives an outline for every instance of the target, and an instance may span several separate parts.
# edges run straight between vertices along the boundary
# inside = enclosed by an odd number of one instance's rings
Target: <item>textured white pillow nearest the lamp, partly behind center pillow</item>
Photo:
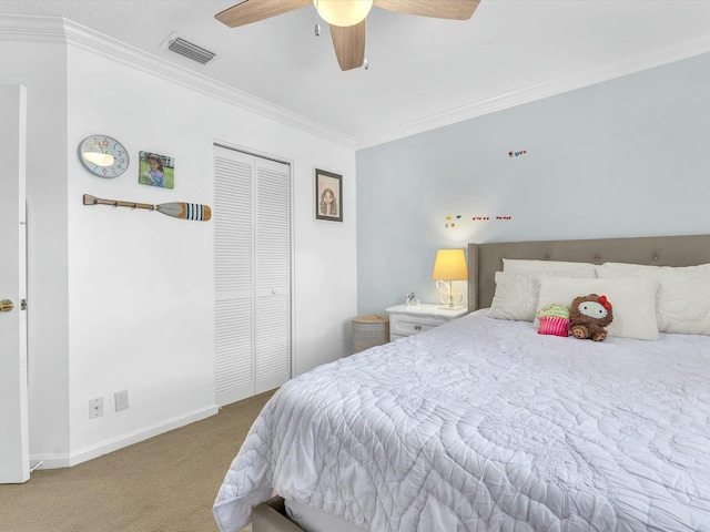
[[[496,272],[496,293],[488,316],[497,319],[532,321],[540,295],[540,276],[589,277],[589,270],[528,272],[510,274]]]

